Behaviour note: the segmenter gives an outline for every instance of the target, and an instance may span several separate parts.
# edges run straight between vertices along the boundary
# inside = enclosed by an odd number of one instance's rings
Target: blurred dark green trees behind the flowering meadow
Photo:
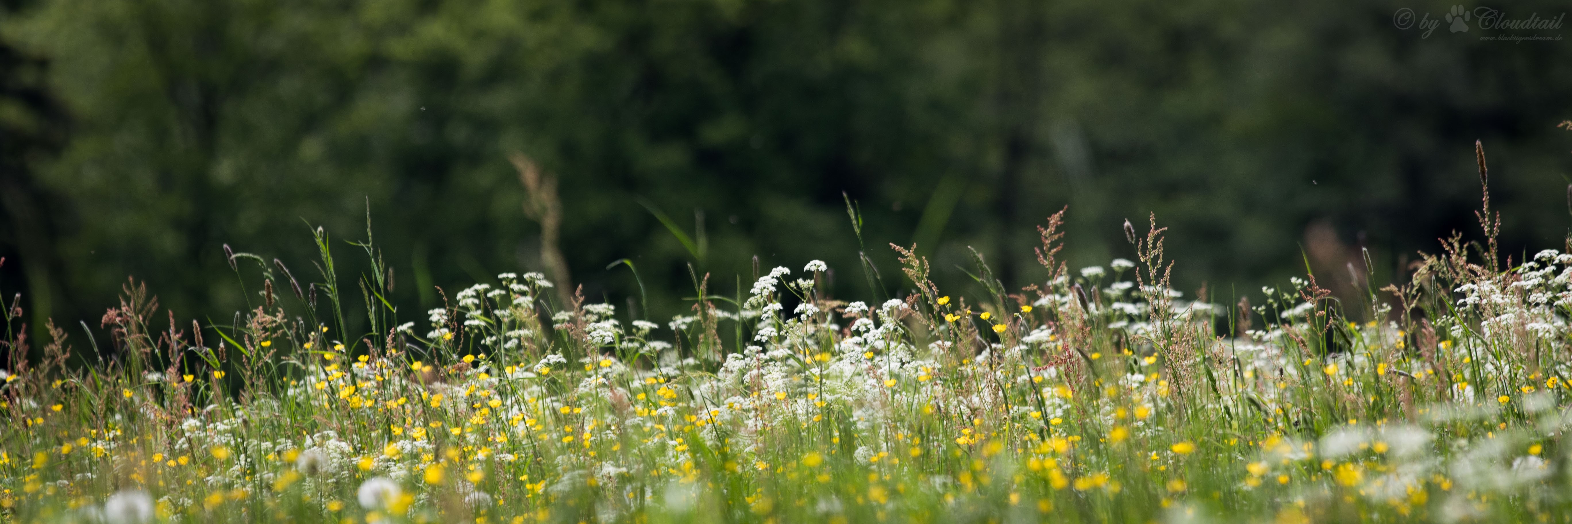
[[[755,256],[868,299],[843,192],[891,290],[888,242],[942,285],[968,245],[1039,280],[1066,205],[1072,268],[1130,256],[1121,223],[1155,212],[1214,302],[1306,260],[1341,279],[1360,247],[1401,279],[1479,236],[1476,138],[1514,260],[1561,247],[1572,47],[1421,38],[1399,8],[1449,3],[0,0],[0,285],[35,327],[94,324],[127,277],[223,321],[223,244],[314,280],[310,228],[349,261],[369,217],[420,321],[435,286],[544,269],[512,153],[558,181],[572,283],[652,319],[689,264],[731,294]]]

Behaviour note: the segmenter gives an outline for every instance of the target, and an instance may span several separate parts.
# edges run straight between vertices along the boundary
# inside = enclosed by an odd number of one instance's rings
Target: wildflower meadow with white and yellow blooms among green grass
[[[0,507],[19,522],[1567,519],[1572,253],[1500,261],[1489,197],[1486,242],[1453,238],[1357,301],[1313,277],[1185,299],[1155,219],[1126,227],[1135,261],[1071,271],[1060,217],[1041,228],[1052,277],[1020,291],[978,255],[981,291],[946,294],[891,245],[898,297],[827,296],[828,268],[806,261],[733,297],[695,275],[690,315],[663,326],[563,304],[539,274],[401,324],[376,249],[355,244],[371,271],[344,285],[321,230],[305,286],[230,255],[261,268],[241,283],[259,304],[231,324],[176,324],[127,285],[101,319],[112,340],[68,345],[50,324],[27,360],[13,305]],[[369,329],[347,334],[360,304]]]

